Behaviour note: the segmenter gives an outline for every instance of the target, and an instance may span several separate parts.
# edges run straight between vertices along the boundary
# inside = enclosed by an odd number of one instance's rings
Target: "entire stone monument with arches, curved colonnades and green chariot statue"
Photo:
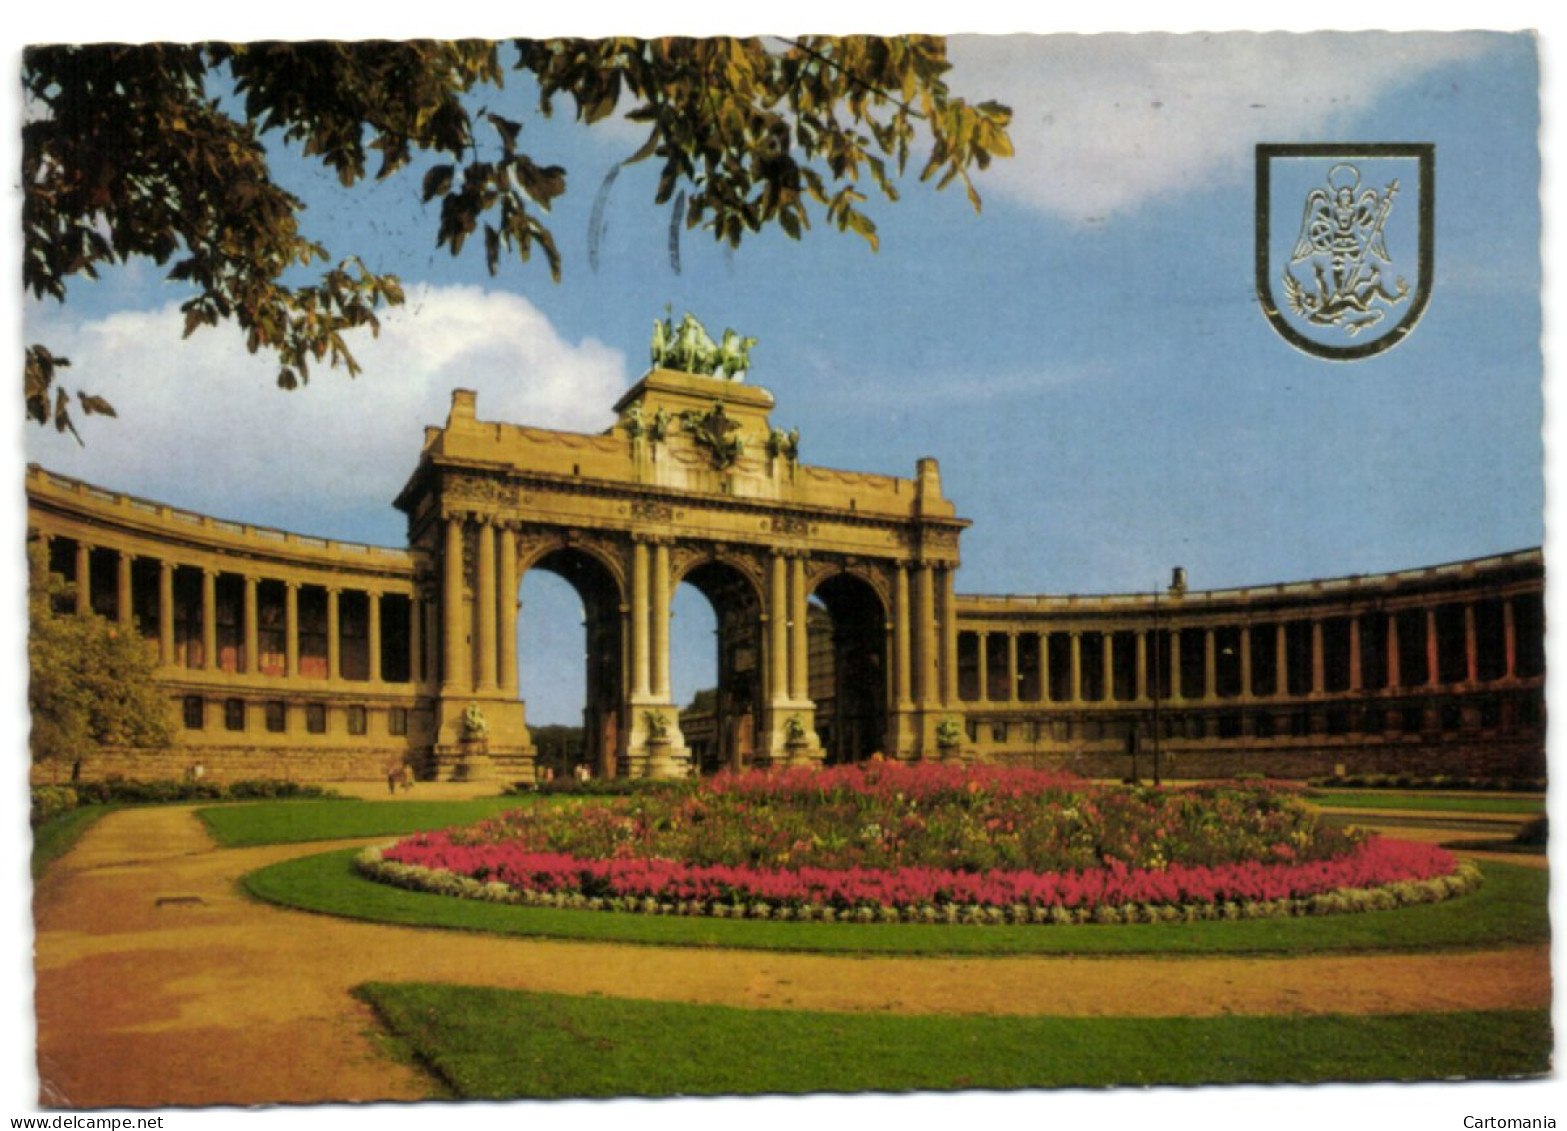
[[[1097,777],[1545,771],[1545,569],[1518,550],[1379,575],[1141,594],[954,594],[968,523],[912,479],[812,467],[751,345],[660,321],[602,434],[480,418],[456,392],[371,547],[27,473],[56,612],[138,633],[166,749],[72,772],[534,780],[541,769],[975,758]],[[528,570],[581,598],[581,747],[536,750]],[[718,680],[671,692],[671,597],[713,605]],[[66,595],[69,592],[69,597]],[[67,608],[66,608],[67,606]],[[566,663],[581,663],[572,650]],[[525,653],[527,655],[527,653]]]

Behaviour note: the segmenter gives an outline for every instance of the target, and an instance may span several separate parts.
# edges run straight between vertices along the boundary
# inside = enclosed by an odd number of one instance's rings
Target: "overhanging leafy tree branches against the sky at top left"
[[[193,288],[186,335],[233,321],[251,352],[276,352],[284,388],[323,360],[354,374],[345,334],[375,332],[376,312],[401,302],[401,287],[299,233],[302,202],[273,180],[263,138],[298,146],[345,188],[371,175],[371,160],[385,179],[431,155],[420,193],[440,205],[437,246],[456,255],[478,237],[490,273],[503,254],[537,251],[558,280],[561,255],[541,215],[566,191],[566,171],[534,163],[519,144],[523,124],[476,103],[508,70],[533,78],[542,114],[569,99],[584,125],[621,111],[646,125],[624,164],[660,161],[655,202],[671,207],[672,226],[732,246],[771,224],[799,238],[815,208],[874,248],[865,182],[896,199],[895,177],[920,147],[920,179],[961,180],[978,208],[970,171],[1012,152],[1011,111],[953,97],[935,38],[519,39],[508,49],[509,67],[489,41],[31,47],[22,60],[25,287],[64,301],[71,279],[146,257]],[[227,83],[223,96],[216,80]],[[293,282],[298,268],[321,263],[318,280]],[[25,360],[31,420],[75,432],[72,399],[83,414],[113,415],[103,398],[61,385],[67,359],[33,343]]]

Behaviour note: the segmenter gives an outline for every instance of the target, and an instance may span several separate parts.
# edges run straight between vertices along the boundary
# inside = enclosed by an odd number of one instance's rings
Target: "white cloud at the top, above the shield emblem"
[[[1012,107],[981,191],[1091,221],[1249,177],[1258,141],[1327,141],[1495,41],[1457,33],[957,36],[951,86]],[[1402,138],[1395,138],[1402,141]]]

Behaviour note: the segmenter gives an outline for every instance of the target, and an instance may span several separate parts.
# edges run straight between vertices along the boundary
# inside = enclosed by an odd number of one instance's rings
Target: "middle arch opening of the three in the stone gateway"
[[[762,733],[760,598],[751,578],[738,569],[707,561],[680,578],[674,597],[677,617],[682,608],[693,605],[683,597],[686,584],[707,598],[711,620],[688,614],[693,631],[682,628],[672,639],[677,645],[672,664],[680,669],[672,672],[674,685],[693,689],[680,713],[680,733],[697,774],[740,769],[755,758]],[[711,664],[682,655],[702,647],[702,630],[710,633]]]

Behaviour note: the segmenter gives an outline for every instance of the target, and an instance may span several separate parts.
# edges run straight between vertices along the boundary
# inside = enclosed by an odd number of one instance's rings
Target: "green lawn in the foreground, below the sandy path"
[[[1547,1010],[1395,1017],[895,1017],[359,988],[464,1098],[1407,1081],[1550,1071]]]

